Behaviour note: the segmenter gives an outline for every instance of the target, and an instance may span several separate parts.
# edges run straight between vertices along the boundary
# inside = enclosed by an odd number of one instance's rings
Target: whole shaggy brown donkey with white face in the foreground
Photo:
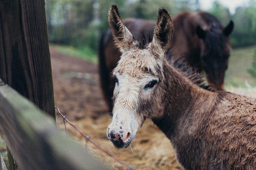
[[[122,51],[113,71],[113,118],[107,128],[115,147],[128,147],[150,118],[186,170],[256,169],[256,99],[200,88],[193,75],[169,64],[164,57],[173,34],[168,11],[159,9],[153,40],[143,45],[124,26],[116,5],[109,26]]]

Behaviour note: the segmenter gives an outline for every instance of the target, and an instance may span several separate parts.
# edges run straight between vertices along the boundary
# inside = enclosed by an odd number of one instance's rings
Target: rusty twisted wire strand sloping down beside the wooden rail
[[[99,150],[105,152],[105,153],[108,153],[110,156],[112,156],[112,158],[114,158],[116,161],[118,161],[120,164],[124,165],[125,167],[127,167],[129,170],[136,170],[134,167],[132,167],[132,165],[129,165],[127,164],[126,162],[122,161],[121,159],[119,159],[113,152],[109,151],[109,150],[106,150],[104,149],[103,147],[101,147],[99,144],[97,144],[96,142],[94,142],[94,140],[92,140],[90,138],[90,136],[86,135],[85,133],[83,133],[76,125],[73,125],[68,119],[66,116],[64,116],[60,111],[59,111],[59,108],[57,108],[56,106],[54,106],[60,116],[62,116],[63,120],[66,120],[68,122],[69,125],[71,125],[72,127],[74,127],[82,136],[85,137],[86,141],[89,141],[91,142],[92,144],[94,144],[94,146],[96,146]],[[65,122],[64,122],[65,124]]]

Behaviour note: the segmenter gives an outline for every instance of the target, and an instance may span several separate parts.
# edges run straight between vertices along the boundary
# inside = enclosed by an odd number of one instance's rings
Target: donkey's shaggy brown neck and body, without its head
[[[184,169],[256,168],[256,99],[210,92],[164,62],[163,116],[153,122],[166,134]]]

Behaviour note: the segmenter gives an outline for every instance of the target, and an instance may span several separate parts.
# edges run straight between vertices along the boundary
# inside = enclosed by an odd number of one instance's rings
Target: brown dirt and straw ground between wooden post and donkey
[[[138,170],[180,169],[171,142],[151,120],[146,120],[138,130],[131,147],[116,149],[106,137],[106,129],[112,118],[107,113],[101,94],[98,65],[59,54],[55,47],[50,48],[50,54],[55,105],[82,132]],[[62,117],[57,113],[56,120],[58,126],[65,130]],[[72,139],[85,146],[111,169],[127,169],[91,143],[86,144],[86,140],[73,127],[67,127]]]

